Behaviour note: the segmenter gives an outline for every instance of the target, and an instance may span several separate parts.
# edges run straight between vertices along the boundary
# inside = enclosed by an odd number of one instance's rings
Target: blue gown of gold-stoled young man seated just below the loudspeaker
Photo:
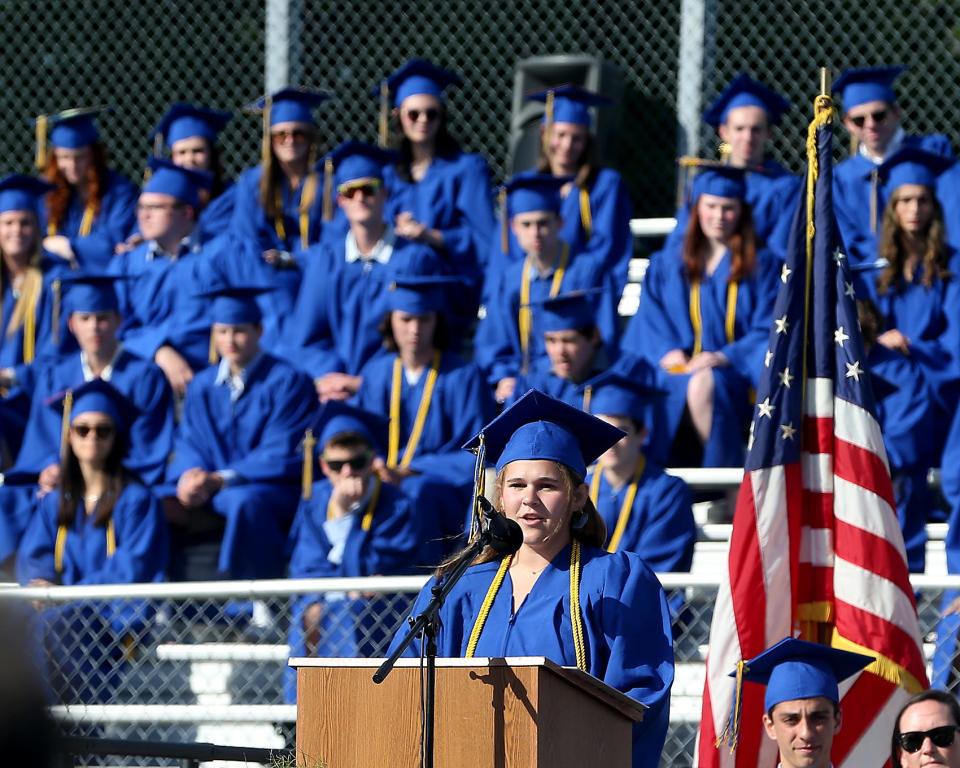
[[[476,361],[491,385],[500,379],[518,376],[523,368],[523,352],[520,346],[518,314],[520,310],[520,284],[524,260],[510,264],[501,274],[496,289],[487,295],[486,316],[477,326],[474,341]],[[530,279],[530,303],[532,322],[530,329],[529,364],[546,355],[543,331],[540,330],[540,313],[537,305],[550,297],[553,272],[541,276],[536,270]],[[580,258],[570,249],[570,259],[557,295],[569,291],[599,288],[594,296],[597,309],[597,327],[603,342],[610,349],[617,348],[619,326],[617,304],[620,294],[613,277],[597,262]]]

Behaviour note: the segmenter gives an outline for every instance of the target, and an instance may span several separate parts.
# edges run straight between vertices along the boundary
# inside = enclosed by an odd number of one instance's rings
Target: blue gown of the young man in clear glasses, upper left
[[[227,238],[194,243],[176,259],[141,243],[113,259],[111,273],[132,279],[117,282],[123,325],[120,339],[134,354],[153,360],[170,345],[194,371],[210,362],[210,300],[195,295],[220,274],[217,253]]]

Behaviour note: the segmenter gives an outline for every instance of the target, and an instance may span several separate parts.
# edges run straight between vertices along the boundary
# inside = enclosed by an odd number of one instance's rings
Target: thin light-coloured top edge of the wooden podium
[[[306,658],[294,657],[288,662],[291,667],[340,667],[340,668],[360,668],[377,669],[383,659],[344,659],[344,658]],[[397,660],[397,667],[416,668],[420,666],[420,659],[403,658]],[[508,658],[450,658],[437,659],[437,668],[489,668],[489,667],[546,667],[553,674],[558,675],[572,685],[577,686],[583,691],[590,693],[596,698],[602,699],[609,706],[616,709],[624,717],[640,722],[643,719],[644,710],[647,707],[635,699],[631,699],[625,693],[621,693],[616,688],[611,688],[599,678],[594,677],[587,672],[581,672],[576,667],[562,667],[545,656],[512,656]]]

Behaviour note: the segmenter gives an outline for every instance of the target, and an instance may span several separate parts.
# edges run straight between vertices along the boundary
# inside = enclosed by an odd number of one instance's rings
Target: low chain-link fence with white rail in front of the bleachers
[[[684,574],[663,578],[672,587],[677,676],[661,765],[689,765],[717,588],[710,579]],[[162,586],[157,590],[168,596],[121,597],[129,588],[120,588],[101,591],[95,601],[69,602],[64,602],[69,589],[55,589],[48,594],[56,602],[44,604],[23,599],[29,592],[0,597],[20,598],[18,608],[29,615],[33,631],[48,633],[47,641],[37,644],[44,648],[38,662],[48,670],[54,712],[66,733],[284,749],[295,741],[293,675],[286,663],[290,625],[301,616],[295,593],[315,595],[335,617],[318,636],[319,655],[379,657],[418,584],[406,579],[400,587],[385,586],[385,581],[390,580],[351,580],[333,589],[319,588],[319,581],[303,586],[291,581],[276,592],[258,587],[256,594],[248,585],[224,584],[208,588],[216,592],[208,597],[170,597],[171,590]],[[695,586],[681,586],[685,583]],[[173,585],[181,587],[189,585]],[[108,594],[116,597],[104,599]],[[940,587],[918,592],[928,655],[943,594]],[[342,601],[350,602],[350,610],[332,610]],[[956,664],[952,649],[950,655]],[[957,681],[951,685],[956,688]],[[101,764],[117,763],[78,762]]]

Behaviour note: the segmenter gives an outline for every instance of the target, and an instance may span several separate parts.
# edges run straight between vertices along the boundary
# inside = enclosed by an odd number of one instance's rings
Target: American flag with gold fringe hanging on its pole
[[[833,213],[829,97],[820,96],[815,111],[805,200],[780,272],[728,578],[714,609],[700,768],[776,765],[776,745],[762,732],[760,686],[744,686],[733,753],[716,740],[733,701],[735,681],[728,673],[741,658],[784,637],[877,659],[841,685],[837,768],[884,765],[897,710],[927,686],[886,451]]]

